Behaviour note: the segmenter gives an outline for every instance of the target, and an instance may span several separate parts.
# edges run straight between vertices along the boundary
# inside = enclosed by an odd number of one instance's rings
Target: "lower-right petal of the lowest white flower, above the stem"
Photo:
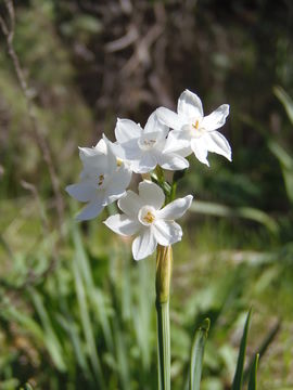
[[[182,237],[181,226],[174,221],[157,220],[151,230],[157,243],[163,246],[175,244]]]

